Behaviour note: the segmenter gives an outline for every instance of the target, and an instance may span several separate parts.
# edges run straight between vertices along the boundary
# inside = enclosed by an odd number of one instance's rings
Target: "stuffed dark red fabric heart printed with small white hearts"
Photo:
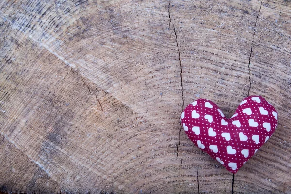
[[[230,119],[207,99],[189,104],[181,115],[191,141],[234,174],[272,136],[277,123],[277,111],[261,96],[243,99]]]

